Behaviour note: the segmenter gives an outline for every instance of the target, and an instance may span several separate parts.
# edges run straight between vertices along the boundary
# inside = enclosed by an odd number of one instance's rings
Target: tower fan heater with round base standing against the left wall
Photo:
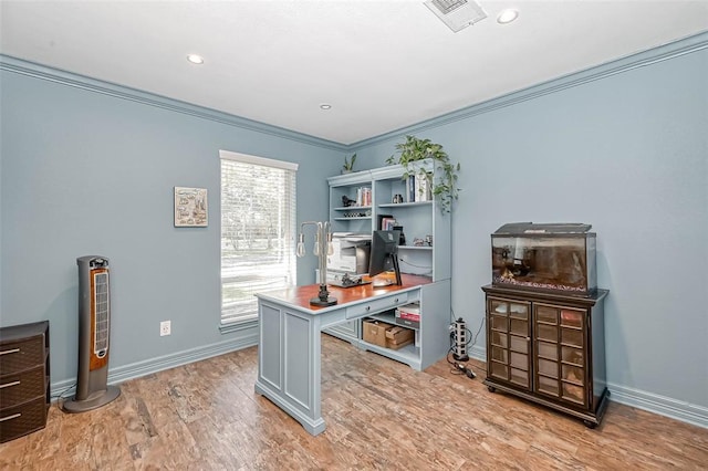
[[[86,255],[79,264],[79,377],[76,395],[64,401],[66,412],[85,412],[105,406],[121,395],[107,386],[111,337],[108,259]]]

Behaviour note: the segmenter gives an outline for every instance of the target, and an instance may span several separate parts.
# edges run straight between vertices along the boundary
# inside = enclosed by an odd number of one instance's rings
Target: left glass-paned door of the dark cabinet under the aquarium
[[[488,375],[531,387],[530,303],[489,297]]]

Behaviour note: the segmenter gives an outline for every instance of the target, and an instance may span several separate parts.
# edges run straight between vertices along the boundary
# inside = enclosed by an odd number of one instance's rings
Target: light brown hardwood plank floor
[[[708,430],[611,402],[600,427],[492,394],[441,360],[425,371],[323,334],[312,437],[253,391],[256,347],[121,385],[0,444],[2,470],[706,470]]]

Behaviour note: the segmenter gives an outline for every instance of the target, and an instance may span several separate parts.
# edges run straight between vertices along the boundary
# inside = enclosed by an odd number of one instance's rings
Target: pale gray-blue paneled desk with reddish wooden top
[[[317,290],[319,286],[313,284],[257,294],[259,344],[256,393],[266,396],[312,435],[325,429],[321,411],[320,362],[320,332],[323,328],[419,301],[419,354],[417,362],[406,363],[424,369],[445,357],[449,349],[449,280],[433,283],[423,276],[404,275],[402,286],[332,287],[331,294],[339,304],[330,307],[310,306],[309,300],[316,296]],[[360,346],[376,350],[363,341]]]

